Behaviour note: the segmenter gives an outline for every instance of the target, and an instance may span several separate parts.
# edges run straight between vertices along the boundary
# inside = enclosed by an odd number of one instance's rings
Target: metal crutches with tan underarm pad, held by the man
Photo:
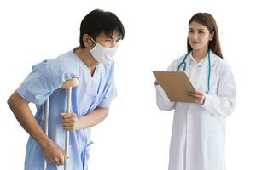
[[[72,96],[72,88],[79,85],[79,79],[72,78],[68,80],[67,82],[62,84],[61,89],[67,89],[67,113],[71,113],[71,96]],[[44,102],[44,132],[48,136],[48,125],[49,123],[49,98]],[[65,136],[65,164],[64,169],[67,170],[67,159],[68,159],[68,149],[69,149],[69,131],[66,130],[66,136]],[[46,170],[47,162],[44,159],[44,170]]]

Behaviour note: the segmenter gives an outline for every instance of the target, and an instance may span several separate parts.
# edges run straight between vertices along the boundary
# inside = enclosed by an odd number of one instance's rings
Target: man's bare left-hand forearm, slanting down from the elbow
[[[23,127],[42,148],[48,147],[48,145],[52,143],[32,115],[28,102],[25,99],[22,99],[20,94],[15,91],[9,98],[8,105],[21,127]]]

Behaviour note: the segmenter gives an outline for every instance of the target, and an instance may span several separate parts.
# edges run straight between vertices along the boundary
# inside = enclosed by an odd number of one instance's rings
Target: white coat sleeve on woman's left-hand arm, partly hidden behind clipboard
[[[172,62],[172,64],[168,67],[167,71],[175,71],[175,62]],[[156,105],[158,106],[158,108],[164,111],[172,111],[173,109],[175,109],[176,102],[172,102],[168,98],[166,92],[160,85],[154,86],[156,92]]]

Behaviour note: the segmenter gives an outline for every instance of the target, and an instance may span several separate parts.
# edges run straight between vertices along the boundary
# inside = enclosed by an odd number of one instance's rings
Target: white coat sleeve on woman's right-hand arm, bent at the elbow
[[[216,94],[206,94],[202,105],[207,111],[216,116],[230,116],[236,105],[236,84],[230,65],[223,65],[218,81]]]

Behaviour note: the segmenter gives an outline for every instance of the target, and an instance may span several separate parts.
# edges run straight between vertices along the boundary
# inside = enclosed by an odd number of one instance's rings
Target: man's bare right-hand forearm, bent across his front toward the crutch
[[[81,127],[93,127],[102,122],[108,116],[108,108],[97,108],[86,116],[80,117]]]

